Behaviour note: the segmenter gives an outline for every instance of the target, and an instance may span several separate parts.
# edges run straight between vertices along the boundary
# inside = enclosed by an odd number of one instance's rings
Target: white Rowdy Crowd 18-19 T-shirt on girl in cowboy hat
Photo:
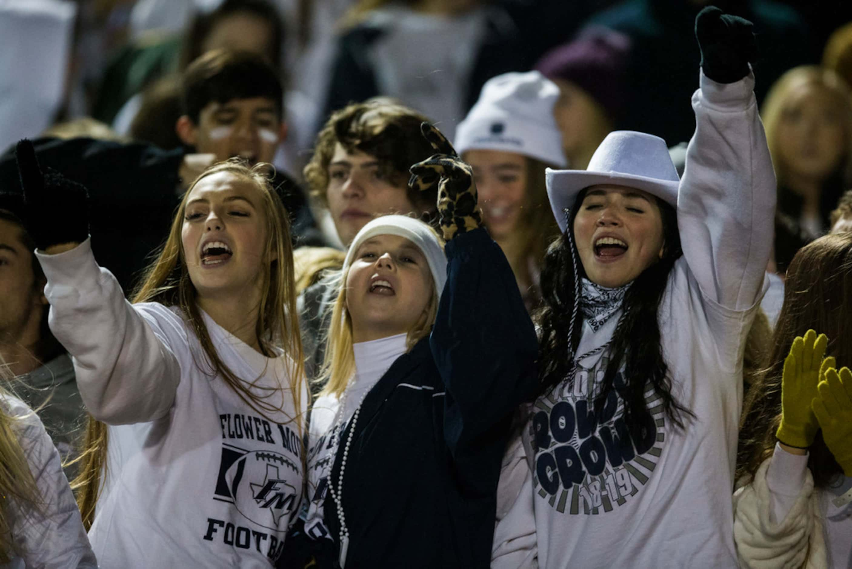
[[[735,344],[723,344],[718,352],[707,347],[714,337],[740,337],[753,309],[734,313],[708,306],[698,317],[677,318],[693,310],[701,294],[686,269],[683,260],[676,263],[659,310],[672,394],[695,415],[682,416],[684,428],[666,417],[652,388],[646,391],[652,420],[627,428],[618,395],[624,368],[595,418],[607,350],[581,360],[573,382],[561,382],[533,406],[527,437],[543,567],[737,566],[727,498],[742,403],[742,355],[737,359]],[[613,315],[597,331],[584,323],[579,353],[606,344],[618,320]],[[720,360],[728,362],[727,369]]]

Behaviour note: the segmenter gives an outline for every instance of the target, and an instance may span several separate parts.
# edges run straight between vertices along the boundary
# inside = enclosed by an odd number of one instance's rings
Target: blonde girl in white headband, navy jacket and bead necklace
[[[320,567],[489,564],[537,345],[498,246],[463,237],[447,266],[431,227],[383,216],[349,247],[309,431],[305,534]]]

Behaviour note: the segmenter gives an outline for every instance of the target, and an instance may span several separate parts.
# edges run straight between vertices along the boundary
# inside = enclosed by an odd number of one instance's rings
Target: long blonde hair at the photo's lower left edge
[[[5,383],[11,378],[11,372],[0,358],[0,381]],[[23,417],[9,414],[5,405],[10,396],[8,390],[0,387],[0,564],[9,563],[23,553],[15,547],[12,517],[24,511],[41,512],[44,505],[18,439]]]

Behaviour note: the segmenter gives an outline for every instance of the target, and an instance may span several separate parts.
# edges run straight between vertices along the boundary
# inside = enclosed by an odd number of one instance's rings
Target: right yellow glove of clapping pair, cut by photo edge
[[[812,406],[828,450],[843,474],[852,476],[852,371],[826,370]]]

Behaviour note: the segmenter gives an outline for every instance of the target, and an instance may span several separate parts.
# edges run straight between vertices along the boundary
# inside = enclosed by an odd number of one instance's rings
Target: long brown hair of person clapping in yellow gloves
[[[781,417],[781,374],[796,336],[816,330],[828,336],[826,356],[838,365],[852,362],[852,233],[816,239],[793,257],[784,290],[784,306],[775,324],[769,367],[757,374],[746,394],[740,418],[737,480],[747,483],[771,456]],[[817,434],[808,466],[817,488],[843,471]]]

